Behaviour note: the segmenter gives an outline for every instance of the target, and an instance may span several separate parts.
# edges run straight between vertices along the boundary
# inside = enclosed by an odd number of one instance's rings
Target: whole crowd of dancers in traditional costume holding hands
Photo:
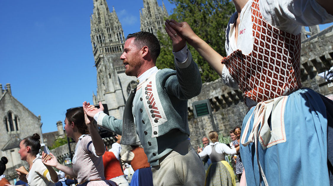
[[[235,156],[234,168],[241,184],[332,185],[333,102],[303,88],[300,78],[301,26],[333,22],[332,2],[233,2],[236,12],[225,33],[225,57],[186,22],[166,20],[175,70],[158,69],[157,38],[148,32],[130,34],[120,59],[126,75],[136,76],[138,85],[127,99],[123,119],[107,116],[101,103],[98,109],[84,102],[83,109],[68,111],[65,131],[77,143],[73,166],[60,164],[52,153],[36,156],[39,136],[33,135],[20,143],[21,159],[29,164],[29,171],[17,169],[20,179],[29,185],[52,185],[59,180],[54,167],[77,178],[80,186],[117,185],[105,179],[102,156],[106,148],[95,120],[98,127],[122,135],[121,144],[133,146],[128,153],[132,163],[146,164],[136,154],[144,152],[149,166],[141,172],[152,176],[145,184],[235,185],[224,155],[240,154]],[[198,154],[190,143],[187,100],[197,96],[202,85],[186,43],[203,56],[224,84],[244,93],[249,111],[241,130],[233,131],[239,137],[229,144],[233,148],[219,143],[216,132],[209,133],[211,143]],[[207,173],[198,155],[209,156],[212,163]],[[240,159],[243,169],[237,165]],[[138,180],[140,184],[140,176]]]

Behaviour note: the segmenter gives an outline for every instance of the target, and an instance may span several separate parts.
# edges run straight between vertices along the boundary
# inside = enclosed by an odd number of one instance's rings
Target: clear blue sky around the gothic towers
[[[107,2],[125,36],[140,31],[142,0]],[[164,3],[170,14],[174,5]],[[68,108],[92,102],[96,94],[92,13],[93,0],[0,1],[0,83],[10,83],[12,95],[41,115],[43,133],[56,131]]]

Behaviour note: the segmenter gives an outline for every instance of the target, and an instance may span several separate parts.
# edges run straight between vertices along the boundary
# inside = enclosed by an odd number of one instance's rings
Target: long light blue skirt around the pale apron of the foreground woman
[[[242,132],[252,107],[243,120]],[[247,138],[253,126],[251,118]],[[270,122],[269,122],[270,123]],[[284,110],[286,142],[263,149],[258,143],[258,159],[270,186],[329,185],[327,168],[326,107],[311,89],[299,89],[288,96]],[[241,137],[243,138],[243,136]],[[254,142],[240,145],[247,185],[265,185],[259,172]]]

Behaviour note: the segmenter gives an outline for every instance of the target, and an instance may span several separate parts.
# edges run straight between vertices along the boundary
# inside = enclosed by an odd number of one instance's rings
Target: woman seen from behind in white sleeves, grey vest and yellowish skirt
[[[235,186],[235,175],[224,157],[226,154],[236,154],[239,146],[230,148],[226,144],[218,142],[218,135],[215,131],[210,131],[208,137],[211,143],[203,150],[198,150],[200,158],[208,155],[212,162],[206,173],[205,185]]]

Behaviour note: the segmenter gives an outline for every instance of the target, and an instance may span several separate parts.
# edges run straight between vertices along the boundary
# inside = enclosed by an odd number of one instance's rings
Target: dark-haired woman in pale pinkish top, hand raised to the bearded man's
[[[89,105],[89,109],[96,108]],[[50,153],[52,159],[44,158],[43,153],[44,163],[77,178],[78,186],[116,186],[115,182],[105,180],[102,159],[105,152],[104,141],[82,107],[67,110],[64,128],[67,137],[73,138],[76,142],[73,168],[60,164],[52,153]]]

